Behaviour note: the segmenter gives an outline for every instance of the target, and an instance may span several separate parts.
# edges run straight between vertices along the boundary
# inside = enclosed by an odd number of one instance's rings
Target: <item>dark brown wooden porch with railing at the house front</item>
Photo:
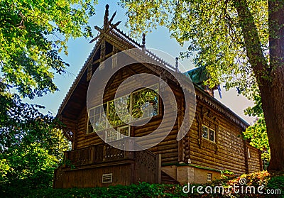
[[[129,144],[127,139],[117,141]],[[54,173],[54,188],[107,187],[138,182],[176,183],[161,171],[161,155],[149,150],[119,150],[107,143],[65,152],[65,165]]]

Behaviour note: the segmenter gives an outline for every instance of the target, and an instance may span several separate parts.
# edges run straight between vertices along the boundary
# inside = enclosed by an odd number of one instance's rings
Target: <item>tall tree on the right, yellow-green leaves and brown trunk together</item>
[[[278,86],[284,74],[283,1],[121,0],[120,4],[127,10],[131,33],[141,35],[165,26],[181,45],[189,43],[182,57],[193,55],[197,67],[206,67],[210,78],[205,84],[237,87],[256,101],[246,112],[259,115],[263,109],[273,156],[269,168],[283,170],[279,159],[283,158],[284,128],[278,116],[284,102]],[[263,127],[262,123],[264,119],[254,128]]]

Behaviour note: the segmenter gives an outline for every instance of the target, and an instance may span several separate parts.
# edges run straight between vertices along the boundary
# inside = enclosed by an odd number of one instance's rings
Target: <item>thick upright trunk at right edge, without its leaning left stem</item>
[[[271,162],[268,170],[284,171],[284,3],[268,1],[271,82],[260,86]]]

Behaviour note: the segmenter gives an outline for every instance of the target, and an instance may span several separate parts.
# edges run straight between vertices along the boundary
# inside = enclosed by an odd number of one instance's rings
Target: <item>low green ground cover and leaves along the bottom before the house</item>
[[[94,188],[72,188],[72,189],[38,189],[32,190],[29,194],[23,197],[283,197],[283,176],[271,177],[268,172],[256,172],[249,175],[241,175],[239,177],[230,177],[222,180],[215,180],[214,182],[207,184],[190,184],[202,186],[203,189],[207,186],[215,187],[222,185],[224,187],[232,187],[233,185],[239,185],[239,180],[246,178],[247,184],[253,185],[256,188],[264,185],[265,189],[281,189],[281,194],[232,194],[231,191],[227,191],[224,194],[199,194],[195,188],[193,193],[185,194],[182,192],[183,185],[158,185],[148,184],[141,182],[138,185],[129,186],[110,186],[110,187],[94,187]]]

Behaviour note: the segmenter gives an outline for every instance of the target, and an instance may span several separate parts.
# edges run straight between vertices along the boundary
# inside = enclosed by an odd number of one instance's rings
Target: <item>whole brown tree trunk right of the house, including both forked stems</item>
[[[244,47],[261,92],[271,162],[268,170],[284,171],[284,16],[283,2],[268,1],[269,53],[267,63],[246,0],[235,0]]]

